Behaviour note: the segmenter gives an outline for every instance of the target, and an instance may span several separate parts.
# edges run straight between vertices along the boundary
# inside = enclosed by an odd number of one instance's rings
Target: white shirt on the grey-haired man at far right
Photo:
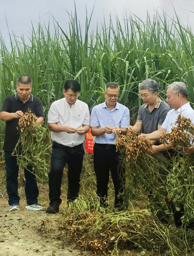
[[[194,110],[191,108],[189,102],[181,106],[178,110],[172,109],[167,113],[167,116],[162,124],[162,128],[167,129],[167,133],[171,132],[171,129],[175,127],[175,121],[178,115],[181,113],[182,116],[190,118],[194,124]]]

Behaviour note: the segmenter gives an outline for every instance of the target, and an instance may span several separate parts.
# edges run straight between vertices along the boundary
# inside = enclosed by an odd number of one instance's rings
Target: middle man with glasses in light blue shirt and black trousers
[[[119,163],[119,151],[114,145],[117,134],[126,134],[129,126],[129,110],[117,102],[119,86],[116,83],[105,85],[104,97],[106,101],[95,106],[91,113],[91,132],[94,138],[94,171],[97,178],[97,195],[101,203],[106,206],[108,194],[109,171],[111,172],[114,190],[115,207],[122,207],[123,199],[119,193],[123,192],[124,168]]]

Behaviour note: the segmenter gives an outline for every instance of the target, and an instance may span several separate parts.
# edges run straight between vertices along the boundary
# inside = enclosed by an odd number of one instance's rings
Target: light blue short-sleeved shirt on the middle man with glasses
[[[120,103],[116,103],[114,109],[110,110],[106,106],[106,102],[101,103],[92,109],[90,117],[90,126],[98,126],[98,128],[103,128],[107,125],[114,127],[118,125],[120,128],[128,128],[129,126],[129,110],[127,107]],[[95,136],[93,141],[100,144],[114,144],[117,135],[102,134],[100,136]]]

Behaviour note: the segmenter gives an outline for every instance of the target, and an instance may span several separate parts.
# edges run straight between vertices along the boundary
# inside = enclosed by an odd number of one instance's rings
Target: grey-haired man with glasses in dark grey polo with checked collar
[[[160,128],[170,107],[158,97],[158,84],[155,80],[146,79],[140,84],[139,97],[144,104],[139,108],[135,125],[130,125],[128,132],[152,133]],[[158,142],[158,140],[152,141],[153,144]]]

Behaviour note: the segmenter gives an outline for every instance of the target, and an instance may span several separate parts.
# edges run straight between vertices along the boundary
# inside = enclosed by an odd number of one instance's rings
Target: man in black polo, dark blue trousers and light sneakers
[[[29,76],[20,76],[17,79],[16,90],[16,94],[8,95],[7,97],[5,97],[0,111],[0,119],[6,121],[3,150],[5,151],[6,184],[7,194],[9,196],[8,203],[10,205],[9,211],[18,210],[20,200],[20,197],[18,195],[17,159],[16,157],[12,156],[12,152],[20,136],[20,133],[17,130],[19,118],[23,116],[23,114],[29,108],[31,112],[38,117],[38,123],[41,124],[44,122],[42,102],[40,99],[34,97],[31,94],[31,78]],[[26,209],[42,210],[43,207],[38,204],[37,199],[39,191],[37,187],[36,177],[33,174],[31,166],[28,166],[27,169],[24,169],[24,175],[26,178]]]

